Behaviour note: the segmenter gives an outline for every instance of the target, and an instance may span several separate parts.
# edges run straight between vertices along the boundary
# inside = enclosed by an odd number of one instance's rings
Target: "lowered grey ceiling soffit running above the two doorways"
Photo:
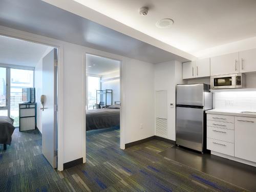
[[[188,61],[39,0],[1,0],[0,25],[151,63]]]

